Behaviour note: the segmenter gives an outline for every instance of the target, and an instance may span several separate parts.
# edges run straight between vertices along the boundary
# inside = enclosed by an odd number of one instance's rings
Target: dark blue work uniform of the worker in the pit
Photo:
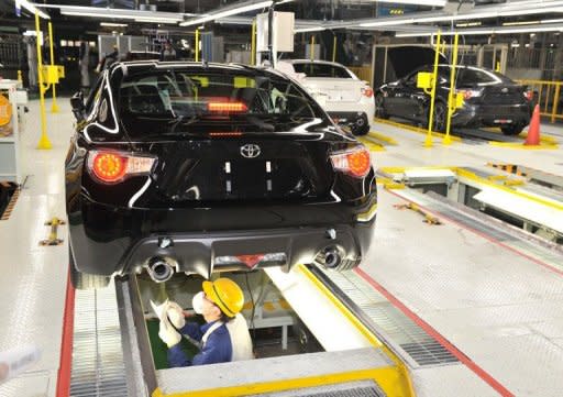
[[[195,322],[187,322],[179,331],[181,334],[189,335],[196,341],[201,342],[201,338],[214,323],[216,321],[199,326]],[[224,323],[209,334],[206,344],[191,361],[181,350],[179,343],[168,349],[167,353],[170,367],[227,363],[232,360],[232,355],[231,335]]]

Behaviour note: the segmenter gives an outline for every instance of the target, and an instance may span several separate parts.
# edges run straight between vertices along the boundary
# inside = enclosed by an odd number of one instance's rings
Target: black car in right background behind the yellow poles
[[[384,84],[375,95],[375,115],[399,117],[428,125],[430,96],[417,87],[419,71],[432,71],[423,66],[394,82]],[[434,131],[445,131],[449,65],[439,65]],[[452,126],[500,126],[503,133],[517,135],[529,124],[533,92],[508,77],[474,66],[456,67],[455,89],[463,95],[463,107],[452,115]]]

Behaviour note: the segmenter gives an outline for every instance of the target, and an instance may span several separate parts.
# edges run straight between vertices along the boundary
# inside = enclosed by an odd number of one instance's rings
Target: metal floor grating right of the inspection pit
[[[350,299],[375,331],[383,337],[411,367],[459,363],[444,346],[394,307],[355,272],[320,269]],[[346,305],[346,299],[344,299]],[[350,306],[350,305],[349,305]]]

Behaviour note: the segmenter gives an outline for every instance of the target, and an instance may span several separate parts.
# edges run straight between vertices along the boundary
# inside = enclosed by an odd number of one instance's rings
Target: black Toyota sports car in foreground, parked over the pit
[[[318,263],[357,266],[375,224],[369,152],[282,74],[118,63],[84,103],[66,158],[71,279],[155,282]]]

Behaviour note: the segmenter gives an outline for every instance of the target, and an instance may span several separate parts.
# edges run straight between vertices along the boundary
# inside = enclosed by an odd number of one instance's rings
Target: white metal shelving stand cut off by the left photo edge
[[[26,102],[26,96],[19,91],[20,88],[21,82],[16,80],[0,80],[0,93],[8,97],[12,107],[10,123],[3,126],[3,129],[11,130],[11,133],[7,136],[0,133],[0,180],[15,181],[18,185],[23,183],[19,120],[23,112],[19,111],[18,104]]]

